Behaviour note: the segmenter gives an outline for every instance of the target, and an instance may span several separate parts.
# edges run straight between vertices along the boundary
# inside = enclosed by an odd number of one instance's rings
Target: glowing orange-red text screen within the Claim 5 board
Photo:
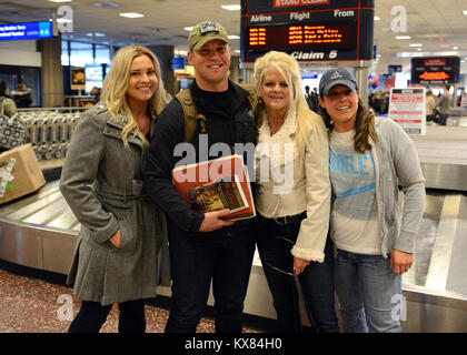
[[[356,45],[352,23],[306,23],[264,26],[248,29],[250,49],[352,49]]]

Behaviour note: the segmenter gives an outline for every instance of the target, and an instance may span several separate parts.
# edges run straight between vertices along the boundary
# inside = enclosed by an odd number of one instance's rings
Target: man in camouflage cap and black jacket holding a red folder
[[[198,23],[188,45],[196,79],[187,90],[206,126],[197,122],[188,142],[196,159],[183,158],[183,164],[235,154],[236,143],[252,145],[256,139],[249,93],[228,79],[231,54],[226,29],[213,21]],[[176,98],[157,119],[145,181],[146,191],[169,216],[172,304],[166,332],[196,332],[212,281],[216,332],[240,333],[255,251],[252,220],[228,222],[220,217],[229,210],[197,213],[186,203],[171,181],[181,160],[178,144],[183,141],[183,110]],[[228,152],[211,150],[219,143]],[[245,156],[244,151],[237,153]]]

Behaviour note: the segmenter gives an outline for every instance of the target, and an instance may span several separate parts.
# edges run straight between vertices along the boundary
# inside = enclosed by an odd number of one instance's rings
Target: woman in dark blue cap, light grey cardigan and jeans
[[[401,332],[393,307],[414,262],[425,179],[410,138],[362,104],[355,77],[327,71],[319,83],[329,129],[331,236],[344,332]],[[398,183],[405,195],[399,220]]]

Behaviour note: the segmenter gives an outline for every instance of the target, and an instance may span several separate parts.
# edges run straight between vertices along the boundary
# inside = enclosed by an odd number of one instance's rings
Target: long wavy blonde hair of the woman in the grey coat
[[[131,114],[131,110],[127,102],[127,90],[130,80],[130,68],[135,58],[147,55],[155,65],[157,77],[157,89],[152,98],[149,100],[149,112],[152,116],[157,116],[167,105],[166,89],[160,73],[159,61],[156,55],[146,47],[128,45],[118,50],[112,59],[112,65],[106,75],[102,85],[101,101],[107,104],[107,109],[113,119],[120,120],[126,125],[121,131],[123,145],[130,149],[128,144],[128,134],[138,135],[148,145],[148,140],[139,130],[138,122]]]

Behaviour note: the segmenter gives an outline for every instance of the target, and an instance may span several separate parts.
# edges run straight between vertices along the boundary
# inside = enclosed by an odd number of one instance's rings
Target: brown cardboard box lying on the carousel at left
[[[27,195],[46,184],[31,144],[0,154],[0,204]]]

